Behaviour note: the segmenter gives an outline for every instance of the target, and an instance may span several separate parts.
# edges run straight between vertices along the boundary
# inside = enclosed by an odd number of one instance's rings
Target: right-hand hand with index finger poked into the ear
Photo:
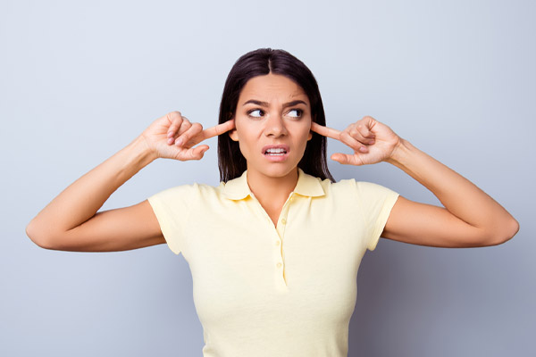
[[[369,116],[350,124],[343,131],[322,127],[315,122],[311,124],[311,130],[350,146],[354,154],[331,155],[331,160],[350,165],[367,165],[389,160],[402,140],[387,125]]]

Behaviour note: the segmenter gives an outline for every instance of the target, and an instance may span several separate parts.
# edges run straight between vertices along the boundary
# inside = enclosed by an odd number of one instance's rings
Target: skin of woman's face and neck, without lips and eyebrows
[[[269,106],[248,103],[256,100]],[[303,101],[284,107],[294,101]],[[239,95],[236,129],[230,138],[239,142],[247,160],[247,184],[274,224],[297,183],[297,163],[311,140],[311,104],[304,90],[292,80],[269,74],[250,79]],[[289,145],[284,162],[271,162],[264,145]]]

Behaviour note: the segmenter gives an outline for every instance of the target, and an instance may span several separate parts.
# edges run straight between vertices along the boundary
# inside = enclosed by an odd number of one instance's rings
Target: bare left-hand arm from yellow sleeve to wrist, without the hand
[[[29,222],[28,236],[43,248],[67,251],[121,251],[164,243],[147,201],[97,213],[118,187],[153,160],[137,138],[48,203]]]

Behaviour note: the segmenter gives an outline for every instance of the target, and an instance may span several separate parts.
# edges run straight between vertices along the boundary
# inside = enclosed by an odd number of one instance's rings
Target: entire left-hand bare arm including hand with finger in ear
[[[155,120],[120,152],[65,188],[29,222],[26,233],[43,248],[76,252],[124,251],[165,243],[147,200],[97,211],[117,188],[156,158],[200,160],[209,147],[193,146],[233,127],[234,122],[228,121],[203,130],[180,112]]]

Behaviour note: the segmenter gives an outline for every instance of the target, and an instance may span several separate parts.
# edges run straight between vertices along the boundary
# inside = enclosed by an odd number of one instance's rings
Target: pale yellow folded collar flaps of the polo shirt
[[[293,193],[309,197],[325,195],[321,179],[306,174],[300,168],[297,168],[297,184]],[[222,194],[230,200],[242,200],[248,195],[252,195],[249,185],[247,185],[247,170],[239,178],[227,181],[222,188]]]

